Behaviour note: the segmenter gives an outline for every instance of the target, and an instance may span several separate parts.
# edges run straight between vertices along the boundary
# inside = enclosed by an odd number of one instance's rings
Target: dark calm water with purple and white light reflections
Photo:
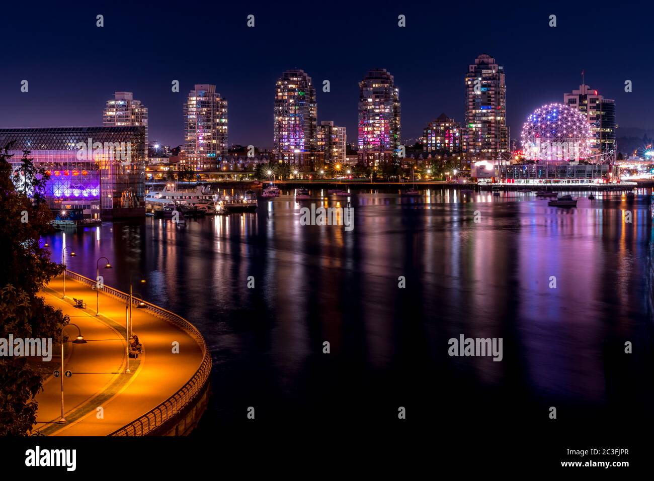
[[[300,207],[326,202],[313,194],[49,242],[56,259],[73,246],[69,269],[89,277],[109,257],[101,273],[122,290],[144,273],[145,299],[198,326],[214,362],[199,435],[247,422],[249,406],[257,420],[327,429],[392,423],[399,406],[426,427],[547,423],[550,406],[562,423],[652,419],[650,191],[575,193],[570,210],[527,193],[360,191],[352,231],[300,225]],[[502,361],[449,356],[461,334],[502,338]]]

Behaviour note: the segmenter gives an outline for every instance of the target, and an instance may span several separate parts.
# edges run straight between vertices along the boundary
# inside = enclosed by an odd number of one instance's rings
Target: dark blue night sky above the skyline
[[[447,113],[463,120],[463,76],[481,53],[504,65],[511,137],[527,114],[586,83],[617,104],[621,127],[654,127],[654,7],[608,2],[88,2],[3,5],[0,127],[101,125],[114,91],[149,108],[150,140],[181,144],[182,103],[211,83],[229,101],[229,141],[271,147],[275,80],[304,69],[318,121],[356,141],[357,82],[395,76],[402,139]],[[487,10],[491,10],[487,12]],[[103,14],[105,26],[95,27]],[[254,14],[256,27],[246,26]],[[407,26],[398,27],[398,14]],[[549,15],[557,27],[549,27]],[[29,81],[29,93],[20,82]],[[180,92],[171,92],[179,80]],[[322,92],[322,80],[331,92]],[[625,93],[625,80],[632,93]],[[620,134],[619,134],[620,135]]]

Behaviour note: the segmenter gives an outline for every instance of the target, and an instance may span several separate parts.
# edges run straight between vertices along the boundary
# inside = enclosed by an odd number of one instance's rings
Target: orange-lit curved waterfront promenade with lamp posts
[[[174,416],[185,407],[184,402],[193,401],[189,393],[199,395],[202,386],[198,384],[203,384],[206,378],[198,376],[198,371],[208,375],[211,360],[203,339],[192,326],[185,326],[181,318],[179,323],[165,320],[154,312],[163,312],[164,316],[167,312],[156,306],[149,305],[151,309],[134,306],[130,333],[138,335],[143,353],[138,359],[129,359],[131,372],[126,374],[126,302],[101,291],[100,316],[96,317],[95,291],[88,285],[67,277],[66,299],[61,299],[62,292],[62,277],[58,276],[42,295],[49,305],[70,316],[71,323],[80,327],[88,342],[68,343],[64,371],[70,370],[73,375],[64,377],[63,381],[67,422],[57,423],[61,416],[61,380],[51,374],[44,382],[44,390],[36,397],[39,410],[35,430],[48,436],[111,435],[177,393],[171,407],[165,406],[165,415],[157,412],[149,416],[150,421],[146,422],[149,430],[152,425],[171,420],[171,414]],[[73,298],[83,299],[88,308],[74,307]],[[152,308],[156,310],[152,312]],[[66,327],[64,333],[75,339],[77,329]],[[173,352],[173,342],[179,342],[179,354]],[[50,364],[53,372],[60,369],[60,357],[53,357]],[[192,379],[194,385],[189,388]],[[184,395],[179,395],[178,391],[184,387]],[[137,429],[123,434],[138,435],[143,429],[141,422]]]

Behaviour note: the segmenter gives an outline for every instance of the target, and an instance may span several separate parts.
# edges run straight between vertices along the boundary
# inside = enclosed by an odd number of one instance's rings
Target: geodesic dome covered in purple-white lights
[[[560,103],[534,110],[521,135],[525,158],[570,161],[589,156],[591,126],[576,108]]]

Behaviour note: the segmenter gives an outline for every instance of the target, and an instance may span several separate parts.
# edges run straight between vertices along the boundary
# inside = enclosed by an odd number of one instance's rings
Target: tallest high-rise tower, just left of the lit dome
[[[463,151],[466,161],[498,159],[509,152],[504,67],[482,54],[465,76],[466,114]]]

